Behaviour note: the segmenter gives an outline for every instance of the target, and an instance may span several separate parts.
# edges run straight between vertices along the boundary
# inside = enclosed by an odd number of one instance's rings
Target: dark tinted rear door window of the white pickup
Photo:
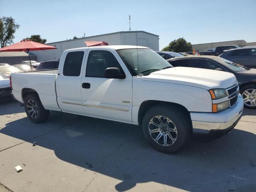
[[[83,57],[83,51],[69,52],[64,62],[63,75],[79,76],[81,72]]]

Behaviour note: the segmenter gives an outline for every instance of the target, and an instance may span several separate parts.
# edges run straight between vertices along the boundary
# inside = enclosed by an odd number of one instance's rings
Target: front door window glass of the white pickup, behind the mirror
[[[86,76],[105,78],[106,68],[116,67],[124,73],[115,56],[109,51],[91,51],[87,61]]]

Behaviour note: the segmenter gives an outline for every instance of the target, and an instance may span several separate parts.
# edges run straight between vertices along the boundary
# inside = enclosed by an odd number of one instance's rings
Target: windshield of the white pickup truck
[[[151,49],[122,49],[117,50],[117,52],[134,75],[149,74],[172,67],[170,63]]]

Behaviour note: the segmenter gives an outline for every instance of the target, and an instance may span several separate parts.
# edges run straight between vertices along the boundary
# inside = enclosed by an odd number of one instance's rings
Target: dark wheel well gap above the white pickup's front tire
[[[157,100],[147,100],[147,101],[144,101],[140,105],[140,109],[139,109],[139,112],[138,112],[138,123],[139,123],[139,125],[142,124],[144,114],[150,108],[152,108],[153,106],[156,106],[156,105],[164,105],[164,106],[169,106],[170,108],[176,108],[176,109],[181,110],[187,116],[187,119],[189,120],[191,128],[192,128],[192,121],[191,121],[191,117],[190,117],[190,112],[184,106],[182,106],[180,104],[177,104],[177,103],[157,101]]]

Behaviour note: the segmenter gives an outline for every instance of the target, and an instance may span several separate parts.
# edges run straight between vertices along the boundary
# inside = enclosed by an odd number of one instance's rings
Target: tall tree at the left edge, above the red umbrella
[[[7,44],[12,44],[14,33],[20,27],[12,17],[2,17],[0,18],[0,45],[1,48],[5,47]]]

